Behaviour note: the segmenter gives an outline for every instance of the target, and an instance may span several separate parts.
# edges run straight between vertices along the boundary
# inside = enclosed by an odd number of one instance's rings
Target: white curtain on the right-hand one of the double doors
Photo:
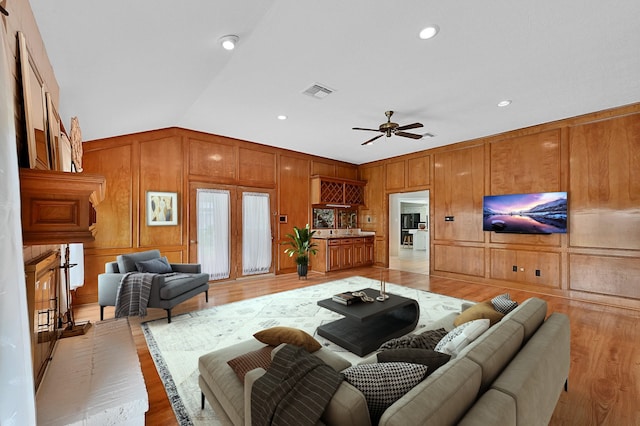
[[[269,194],[242,193],[242,273],[264,274],[271,267]]]

